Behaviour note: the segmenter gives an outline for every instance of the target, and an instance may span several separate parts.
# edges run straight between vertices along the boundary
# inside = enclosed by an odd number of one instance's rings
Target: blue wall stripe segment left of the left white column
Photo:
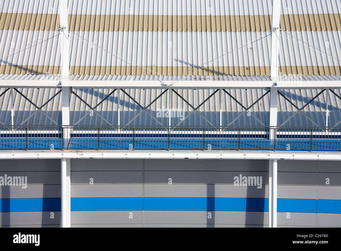
[[[0,212],[60,211],[60,198],[0,199]]]

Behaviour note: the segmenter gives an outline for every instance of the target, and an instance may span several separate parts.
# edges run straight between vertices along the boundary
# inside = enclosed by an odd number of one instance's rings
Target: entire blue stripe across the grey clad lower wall
[[[71,198],[71,211],[258,211],[268,212],[267,198]],[[317,206],[317,209],[316,209]],[[0,212],[60,211],[60,198],[0,199]],[[278,212],[341,213],[341,200],[277,199]]]

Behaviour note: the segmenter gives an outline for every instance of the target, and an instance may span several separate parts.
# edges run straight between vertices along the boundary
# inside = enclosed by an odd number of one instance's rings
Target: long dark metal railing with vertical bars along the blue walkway
[[[341,151],[340,142],[341,127],[0,127],[0,150]]]

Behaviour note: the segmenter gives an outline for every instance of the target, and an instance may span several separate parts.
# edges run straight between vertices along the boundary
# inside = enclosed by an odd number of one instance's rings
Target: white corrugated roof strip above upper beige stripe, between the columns
[[[272,0],[73,0],[68,10],[82,15],[268,15]]]

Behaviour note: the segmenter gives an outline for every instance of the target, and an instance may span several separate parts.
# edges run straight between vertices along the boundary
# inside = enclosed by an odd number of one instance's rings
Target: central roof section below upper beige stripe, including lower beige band
[[[70,39],[73,74],[269,75],[270,72],[270,51],[266,50],[271,43],[270,33],[81,32],[80,36],[91,43],[78,39],[77,33]],[[240,48],[260,37],[264,39]]]

